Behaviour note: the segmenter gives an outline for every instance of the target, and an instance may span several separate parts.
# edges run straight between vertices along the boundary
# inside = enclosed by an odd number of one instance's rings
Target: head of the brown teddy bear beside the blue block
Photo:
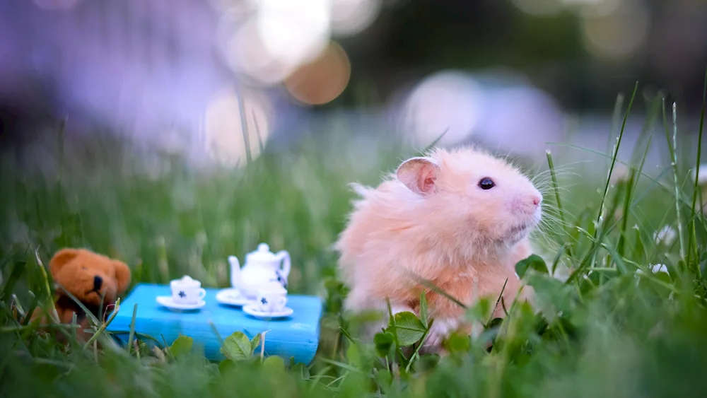
[[[69,291],[81,303],[98,306],[115,302],[130,284],[130,269],[124,262],[86,249],[59,250],[49,271],[59,291]]]

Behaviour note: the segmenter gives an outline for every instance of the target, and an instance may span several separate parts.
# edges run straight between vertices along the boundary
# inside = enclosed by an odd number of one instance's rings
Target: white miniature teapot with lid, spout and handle
[[[228,256],[228,263],[231,285],[247,298],[255,298],[258,287],[271,281],[287,287],[290,254],[285,250],[272,253],[267,243],[261,243],[256,251],[246,254],[243,268],[240,267],[238,257]]]

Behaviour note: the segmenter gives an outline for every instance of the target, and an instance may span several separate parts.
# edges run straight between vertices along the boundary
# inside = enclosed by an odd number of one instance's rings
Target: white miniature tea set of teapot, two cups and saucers
[[[235,256],[228,257],[228,264],[231,287],[218,291],[218,303],[242,307],[243,312],[257,318],[287,317],[293,313],[287,307],[291,266],[288,252],[273,253],[266,243],[261,243],[257,250],[246,254],[243,267]],[[160,305],[172,310],[198,310],[206,305],[206,291],[191,276],[171,281],[170,289],[172,295],[157,298]]]

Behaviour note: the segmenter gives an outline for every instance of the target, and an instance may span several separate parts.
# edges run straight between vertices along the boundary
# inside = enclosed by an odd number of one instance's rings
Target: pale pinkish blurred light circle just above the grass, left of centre
[[[252,158],[257,158],[260,146],[267,142],[272,123],[271,105],[265,95],[245,88],[240,88],[238,93],[232,87],[223,88],[206,108],[206,153],[222,165],[245,165],[246,148],[250,148]]]

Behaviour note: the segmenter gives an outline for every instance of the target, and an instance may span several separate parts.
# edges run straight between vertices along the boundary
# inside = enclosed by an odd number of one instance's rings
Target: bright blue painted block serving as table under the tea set
[[[174,311],[157,303],[157,296],[171,295],[167,285],[141,283],[124,300],[115,319],[108,325],[119,341],[125,342],[129,336],[134,305],[137,304],[135,332],[148,334],[159,341],[164,336],[168,344],[180,334],[192,337],[194,344],[200,344],[206,358],[212,361],[223,359],[221,342],[209,322],[222,339],[233,332],[243,332],[252,338],[255,334],[269,330],[265,334],[265,355],[281,356],[285,362],[294,357],[296,363],[308,364],[314,358],[319,344],[322,300],[311,295],[288,295],[287,306],[293,309],[289,317],[274,320],[259,320],[245,314],[239,307],[218,303],[216,293],[220,289],[205,288],[206,305],[199,310]],[[256,350],[259,353],[259,348]]]

